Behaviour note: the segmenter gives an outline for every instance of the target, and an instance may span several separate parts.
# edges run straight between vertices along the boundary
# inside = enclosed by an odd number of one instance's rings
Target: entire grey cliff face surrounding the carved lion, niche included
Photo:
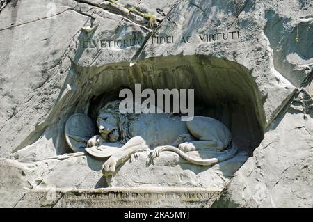
[[[1,0],[0,206],[36,189],[214,181],[226,186],[214,207],[312,207],[312,21],[305,0]],[[72,114],[95,120],[136,83],[194,88],[195,113],[230,129],[237,162],[172,154],[146,168],[141,153],[105,178],[106,159],[59,158]]]

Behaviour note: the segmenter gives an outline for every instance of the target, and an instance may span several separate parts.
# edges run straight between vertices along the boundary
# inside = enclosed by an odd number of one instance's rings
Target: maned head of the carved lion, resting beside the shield
[[[99,110],[97,126],[106,141],[126,143],[133,137],[132,121],[138,119],[135,114],[122,114],[119,110],[120,100],[108,102]]]

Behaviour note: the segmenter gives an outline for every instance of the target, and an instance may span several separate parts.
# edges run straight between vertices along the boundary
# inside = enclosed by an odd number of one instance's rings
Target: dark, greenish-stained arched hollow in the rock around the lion
[[[100,67],[72,62],[63,92],[47,120],[16,150],[52,138],[55,154],[71,152],[64,125],[72,114],[85,113],[95,120],[99,109],[118,99],[122,88],[194,89],[195,115],[211,116],[232,132],[240,150],[252,154],[264,135],[264,110],[250,70],[234,61],[209,56],[166,56]],[[69,90],[70,88],[70,90]],[[51,150],[51,149],[50,149]]]

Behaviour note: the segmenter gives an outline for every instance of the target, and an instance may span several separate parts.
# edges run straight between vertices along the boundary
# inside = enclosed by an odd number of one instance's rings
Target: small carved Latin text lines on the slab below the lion
[[[210,207],[217,191],[170,193],[65,193],[62,207]]]

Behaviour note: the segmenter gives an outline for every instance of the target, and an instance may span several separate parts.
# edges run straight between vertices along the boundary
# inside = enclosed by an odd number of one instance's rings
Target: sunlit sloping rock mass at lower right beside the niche
[[[236,172],[215,207],[313,206],[313,119],[294,102]],[[312,107],[312,101],[311,101]]]

